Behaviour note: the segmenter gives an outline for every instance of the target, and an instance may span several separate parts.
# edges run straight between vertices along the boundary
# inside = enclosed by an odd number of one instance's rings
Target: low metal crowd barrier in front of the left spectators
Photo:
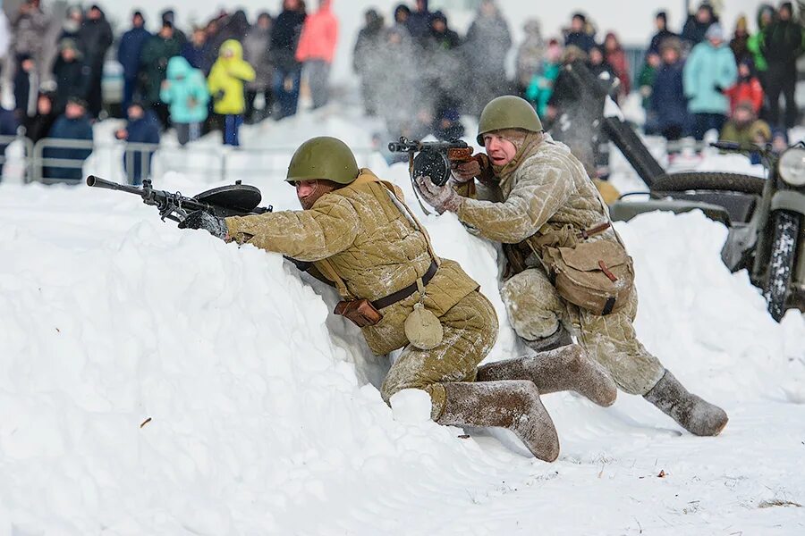
[[[9,150],[0,151],[0,170],[5,163],[18,163],[17,173],[23,182],[44,184],[75,184],[85,174],[139,184],[143,179],[167,172],[179,172],[203,182],[250,180],[284,172],[296,150],[296,147],[179,147],[64,138],[43,138],[34,144],[20,136],[0,137],[0,148],[4,147]],[[71,155],[71,151],[77,154]],[[353,149],[353,153],[361,167],[382,158],[369,147]]]

